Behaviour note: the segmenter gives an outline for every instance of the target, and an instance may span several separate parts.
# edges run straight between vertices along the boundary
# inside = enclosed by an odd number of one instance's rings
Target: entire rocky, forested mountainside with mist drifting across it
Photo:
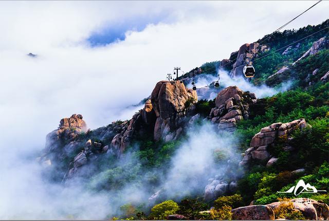
[[[327,192],[278,193],[301,179],[329,191],[325,27],[271,33],[157,82],[130,120],[90,130],[79,114],[63,118],[38,158],[44,177],[108,193],[104,218],[328,219]],[[245,49],[256,71],[242,82]],[[296,209],[307,198],[311,209]]]

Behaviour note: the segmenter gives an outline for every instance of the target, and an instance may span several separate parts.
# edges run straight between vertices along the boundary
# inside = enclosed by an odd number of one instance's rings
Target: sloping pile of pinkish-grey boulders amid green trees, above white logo
[[[274,144],[278,137],[290,135],[296,129],[306,127],[305,119],[294,120],[289,123],[273,123],[263,127],[261,131],[253,136],[250,142],[250,148],[245,151],[240,165],[248,165],[250,162],[265,162],[268,166],[275,163],[276,159],[271,158],[268,152],[269,145]],[[294,151],[291,146],[285,146],[284,151]],[[271,158],[271,159],[270,159]]]

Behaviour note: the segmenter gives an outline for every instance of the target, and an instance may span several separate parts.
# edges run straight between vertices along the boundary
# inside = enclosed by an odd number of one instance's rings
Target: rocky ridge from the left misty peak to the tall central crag
[[[155,141],[178,139],[194,114],[196,101],[196,92],[180,81],[160,81],[151,99],[131,120],[87,131],[82,115],[62,119],[58,129],[47,135],[39,160],[59,172],[57,179],[87,177],[93,173],[90,167],[99,157],[104,154],[120,157],[138,135],[152,134]]]

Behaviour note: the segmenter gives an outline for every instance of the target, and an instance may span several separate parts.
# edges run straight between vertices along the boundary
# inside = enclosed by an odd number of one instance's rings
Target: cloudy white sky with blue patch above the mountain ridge
[[[137,109],[126,107],[174,66],[229,58],[314,3],[0,2],[0,136],[40,150],[74,113],[90,128],[130,119]],[[319,24],[328,10],[323,1],[286,28]]]

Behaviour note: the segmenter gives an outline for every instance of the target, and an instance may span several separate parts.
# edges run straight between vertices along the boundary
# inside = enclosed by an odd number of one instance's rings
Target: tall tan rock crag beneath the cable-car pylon
[[[160,81],[152,91],[151,102],[156,115],[154,140],[169,141],[181,132],[180,124],[197,102],[197,95],[180,81]]]

